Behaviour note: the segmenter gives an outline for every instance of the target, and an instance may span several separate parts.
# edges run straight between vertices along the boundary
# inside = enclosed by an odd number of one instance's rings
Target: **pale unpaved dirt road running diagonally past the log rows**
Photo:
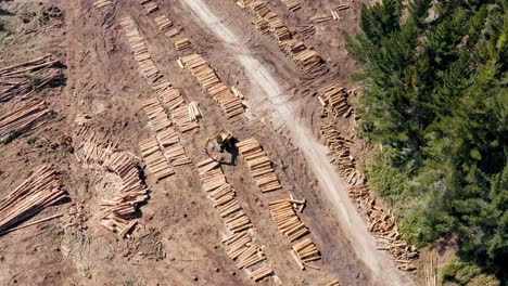
[[[412,285],[395,269],[386,252],[378,251],[373,236],[367,232],[364,219],[356,211],[347,196],[347,186],[335,170],[335,167],[327,158],[327,148],[321,145],[300,120],[294,112],[294,102],[290,102],[284,89],[279,86],[275,77],[256,58],[251,55],[249,48],[207,8],[202,0],[181,0],[192,11],[207,29],[211,29],[218,39],[225,42],[228,52],[237,57],[249,75],[252,86],[257,86],[263,92],[251,92],[247,100],[263,103],[253,104],[251,109],[256,110],[272,108],[276,116],[272,120],[280,119],[287,128],[295,144],[305,155],[310,169],[326,191],[329,199],[338,211],[340,225],[347,239],[351,242],[358,258],[371,270],[376,285]],[[269,105],[269,106],[266,106]],[[277,126],[276,126],[277,128]]]

